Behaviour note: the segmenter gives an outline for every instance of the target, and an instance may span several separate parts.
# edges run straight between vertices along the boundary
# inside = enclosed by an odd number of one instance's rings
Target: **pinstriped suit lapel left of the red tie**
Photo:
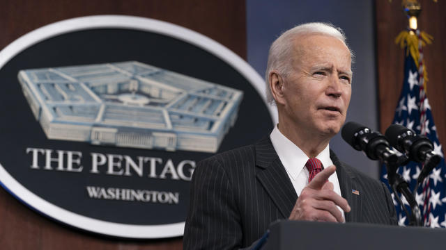
[[[270,138],[264,138],[255,144],[256,147],[256,178],[270,195],[277,209],[288,218],[293,210],[298,195],[277,153],[272,147]]]

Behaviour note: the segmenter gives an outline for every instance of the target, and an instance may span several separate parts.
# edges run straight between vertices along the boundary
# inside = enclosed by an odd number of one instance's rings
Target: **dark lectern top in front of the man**
[[[445,249],[445,228],[281,221],[262,249]]]

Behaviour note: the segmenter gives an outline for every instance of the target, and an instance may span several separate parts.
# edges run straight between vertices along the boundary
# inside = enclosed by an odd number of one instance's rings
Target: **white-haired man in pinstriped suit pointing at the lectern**
[[[254,145],[199,163],[185,249],[248,247],[277,219],[397,224],[387,188],[328,146],[346,119],[351,60],[328,24],[302,24],[273,42],[266,83],[279,124]]]

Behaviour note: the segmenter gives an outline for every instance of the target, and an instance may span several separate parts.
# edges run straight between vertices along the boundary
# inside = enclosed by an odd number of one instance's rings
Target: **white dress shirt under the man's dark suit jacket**
[[[308,185],[309,171],[307,167],[305,167],[305,164],[309,157],[298,146],[291,142],[291,140],[286,138],[285,135],[279,131],[277,125],[272,130],[270,139],[282,165],[285,167],[291,183],[293,183],[296,194],[300,196],[302,190]],[[318,154],[318,156],[316,156],[316,158],[321,160],[324,168],[333,165],[333,162],[330,159],[330,148],[328,145]],[[339,188],[336,172],[328,178],[328,181],[333,183],[333,191],[341,196],[341,188]],[[345,219],[344,210],[339,208],[339,206],[338,209],[341,210],[342,216]]]

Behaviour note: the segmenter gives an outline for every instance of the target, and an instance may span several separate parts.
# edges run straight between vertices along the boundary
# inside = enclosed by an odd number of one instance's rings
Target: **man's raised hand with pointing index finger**
[[[333,183],[328,177],[336,171],[334,165],[323,169],[305,187],[295,202],[289,219],[318,222],[344,222],[339,206],[345,212],[350,212],[347,200],[333,191]]]

